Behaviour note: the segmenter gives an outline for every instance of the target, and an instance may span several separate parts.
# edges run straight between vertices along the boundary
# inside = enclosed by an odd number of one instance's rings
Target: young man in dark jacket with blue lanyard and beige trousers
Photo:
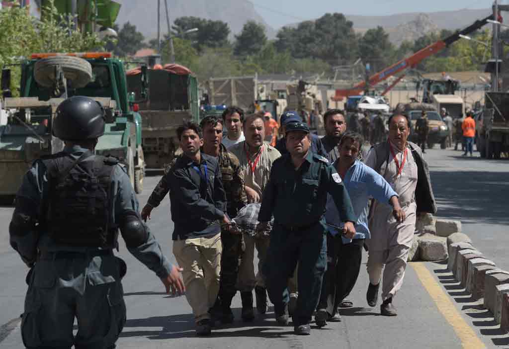
[[[228,226],[221,171],[213,156],[200,151],[202,130],[193,123],[177,129],[182,157],[166,173],[171,201],[173,253],[182,272],[186,298],[193,310],[196,335],[211,334],[209,309],[219,291],[220,224]]]

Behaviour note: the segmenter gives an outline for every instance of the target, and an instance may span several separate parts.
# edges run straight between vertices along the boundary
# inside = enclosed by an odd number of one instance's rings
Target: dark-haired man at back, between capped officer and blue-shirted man
[[[320,140],[325,149],[325,157],[332,163],[340,157],[337,145],[347,130],[345,114],[340,109],[330,109],[323,115],[325,136]]]

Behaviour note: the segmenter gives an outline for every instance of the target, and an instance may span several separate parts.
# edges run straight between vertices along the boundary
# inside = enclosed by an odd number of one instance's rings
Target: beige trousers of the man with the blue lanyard
[[[210,318],[209,309],[219,292],[221,252],[221,234],[173,242],[173,254],[184,269],[186,298],[196,322]]]

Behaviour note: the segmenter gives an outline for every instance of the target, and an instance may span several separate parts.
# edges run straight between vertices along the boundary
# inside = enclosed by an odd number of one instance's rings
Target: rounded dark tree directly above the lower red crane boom
[[[378,72],[394,59],[394,46],[389,34],[381,26],[370,29],[359,40],[359,55],[364,63],[370,63],[372,72]]]

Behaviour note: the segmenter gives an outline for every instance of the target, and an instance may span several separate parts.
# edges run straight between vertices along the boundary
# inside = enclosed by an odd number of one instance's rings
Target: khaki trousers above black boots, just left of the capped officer
[[[237,289],[240,292],[252,291],[255,286],[265,288],[265,277],[261,273],[269,248],[269,238],[253,238],[244,234],[245,250],[239,266]],[[258,251],[258,273],[254,273],[254,249]]]

